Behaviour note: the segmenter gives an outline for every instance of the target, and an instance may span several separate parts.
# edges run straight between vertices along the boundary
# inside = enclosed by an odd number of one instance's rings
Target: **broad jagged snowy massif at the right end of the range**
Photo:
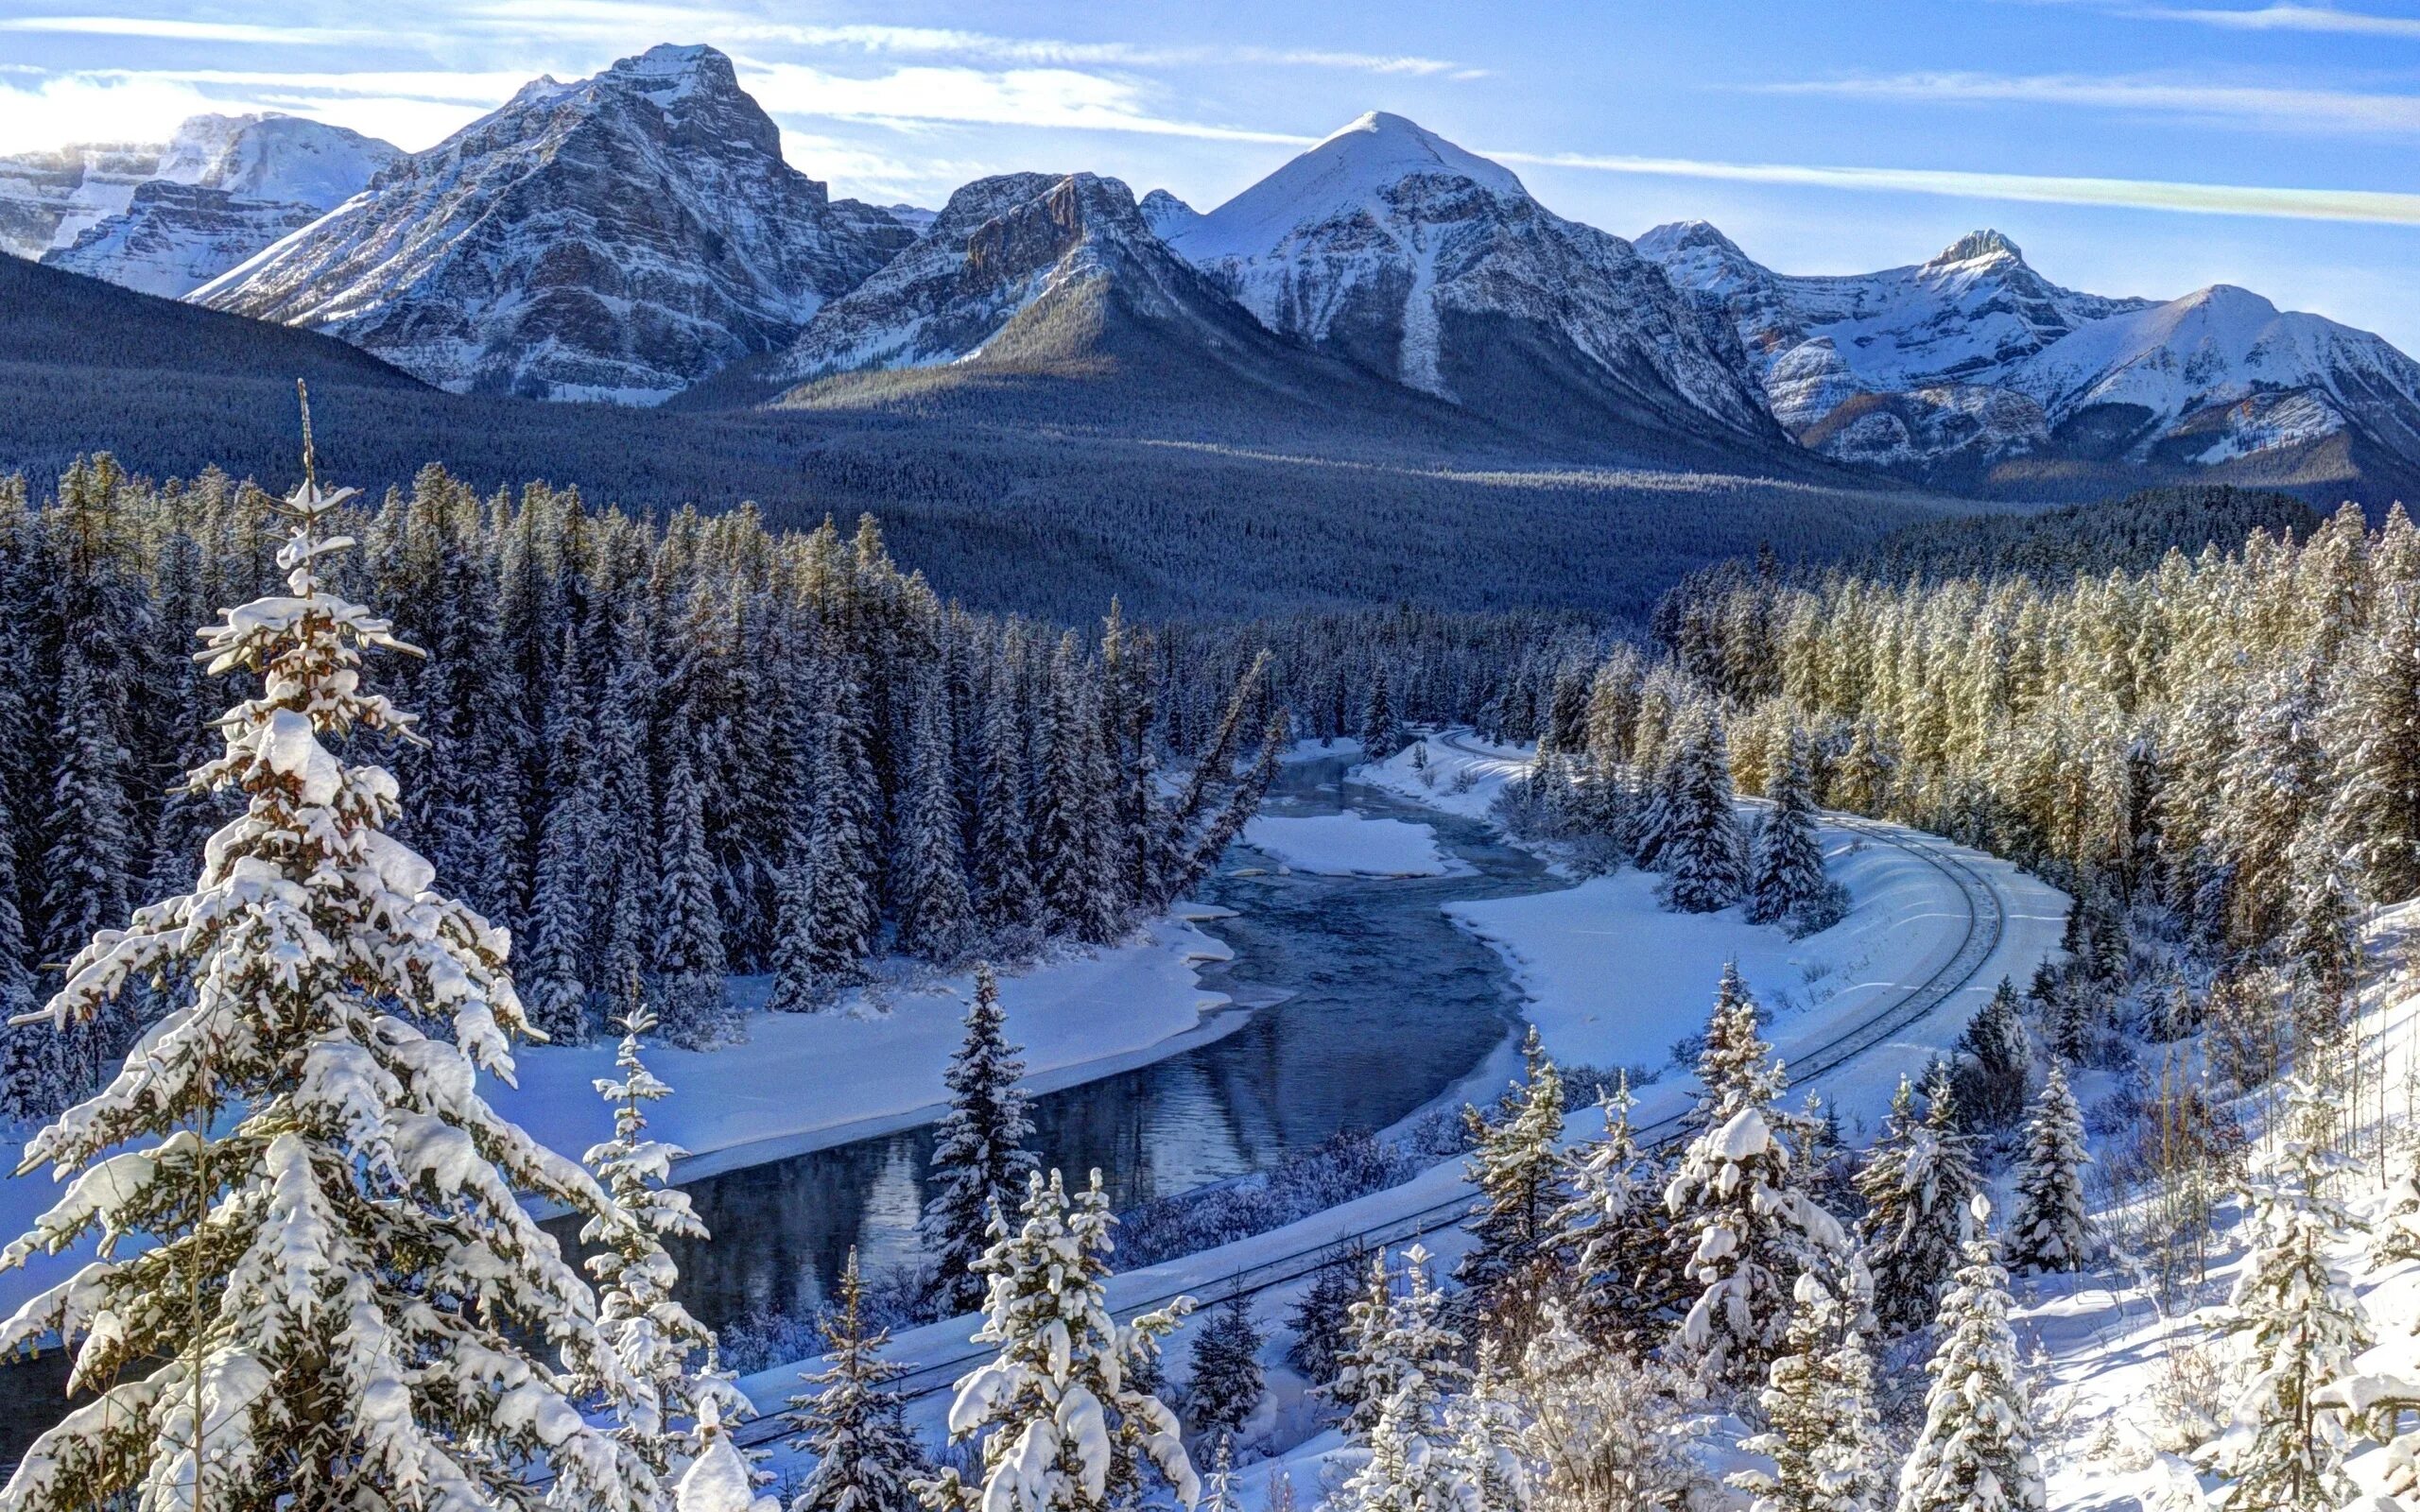
[[[1851,276],[1774,273],[1704,220],[1660,225],[1638,252],[1721,302],[1774,419],[1846,462],[2280,464],[2347,431],[2420,460],[2420,365],[2238,288],[2076,293],[1992,230]]]

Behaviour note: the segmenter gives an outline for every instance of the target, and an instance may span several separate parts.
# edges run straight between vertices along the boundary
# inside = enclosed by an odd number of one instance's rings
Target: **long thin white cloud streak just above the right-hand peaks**
[[[2260,184],[2171,184],[2161,179],[2062,179],[1909,167],[1822,167],[1798,162],[1701,162],[1694,157],[1592,157],[1583,152],[1488,152],[1500,162],[1571,167],[1667,179],[1800,184],[1863,194],[1938,194],[1951,198],[2115,206],[2185,215],[2268,215],[2280,220],[2364,220],[2420,225],[2420,194],[2376,189],[2270,189]]]

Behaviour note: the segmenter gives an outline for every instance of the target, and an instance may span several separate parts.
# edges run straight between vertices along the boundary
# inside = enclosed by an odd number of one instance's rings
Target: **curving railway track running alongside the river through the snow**
[[[1450,735],[1445,738],[1445,743],[1454,745]],[[1454,745],[1454,750],[1462,750],[1464,755],[1483,755],[1464,745]],[[1948,960],[1941,963],[1938,970],[1926,975],[1921,982],[1917,982],[1905,994],[1900,994],[1876,1014],[1866,1016],[1856,1026],[1822,1040],[1820,1045],[1800,1050],[1791,1060],[1791,1074],[1796,1081],[1813,1081],[1815,1077],[1825,1077],[1849,1064],[1859,1055],[1873,1050],[1876,1045],[1890,1040],[1900,1031],[1924,1021],[1934,1009],[1938,1009],[1943,1002],[1963,992],[1975,980],[1975,975],[1982,973],[1992,953],[1999,951],[2001,936],[2006,934],[2009,927],[2009,914],[1999,900],[1999,893],[1992,888],[1989,881],[1984,881],[1980,871],[1975,871],[1953,849],[1931,842],[1929,837],[1919,837],[1909,830],[1880,825],[1856,815],[1827,813],[1822,818],[1827,825],[1866,835],[1880,844],[1890,844],[1912,856],[1919,856],[1921,861],[1948,876],[1951,883],[1955,883],[1960,898],[1965,900],[1967,919],[1958,948],[1948,956]],[[1670,1118],[1638,1125],[1641,1144],[1648,1149],[1660,1149],[1677,1142],[1682,1137],[1684,1118],[1687,1113],[1675,1113]],[[1471,1214],[1474,1205],[1476,1198],[1454,1195],[1445,1202],[1433,1202],[1411,1214],[1394,1214],[1377,1224],[1360,1224],[1360,1227],[1346,1224],[1338,1227],[1333,1234],[1321,1236],[1316,1243],[1307,1243],[1292,1253],[1275,1256],[1268,1260],[1254,1260],[1251,1265],[1241,1265],[1225,1275],[1203,1277],[1188,1287],[1162,1292],[1154,1297],[1120,1299],[1116,1311],[1120,1316],[1147,1314],[1152,1309],[1169,1306],[1179,1297],[1188,1294],[1232,1297],[1241,1292],[1251,1297],[1258,1292],[1268,1292],[1273,1287],[1283,1287],[1312,1275],[1314,1270],[1326,1265],[1329,1258],[1343,1246],[1360,1243],[1370,1248],[1377,1246],[1394,1248],[1401,1243],[1413,1243],[1423,1234],[1433,1234],[1437,1229],[1459,1224],[1464,1217]],[[905,1377],[898,1379],[895,1389],[908,1401],[939,1396],[953,1389],[961,1374],[966,1374],[968,1369],[990,1357],[992,1350],[966,1347],[944,1360],[917,1364],[915,1369],[910,1369]],[[779,1408],[779,1403],[757,1403],[757,1408],[770,1413]],[[789,1432],[791,1430],[779,1418],[765,1415],[738,1427],[733,1437],[745,1447],[765,1447],[789,1437]]]

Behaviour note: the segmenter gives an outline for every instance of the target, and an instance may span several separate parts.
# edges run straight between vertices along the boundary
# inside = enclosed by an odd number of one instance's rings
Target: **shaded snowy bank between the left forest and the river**
[[[1171,1055],[1239,1028],[1246,1018],[1195,970],[1232,951],[1191,919],[1220,910],[1179,907],[1133,941],[1070,951],[1004,975],[1009,1038],[1024,1045],[1026,1086],[1050,1091]],[[733,980],[760,1004],[765,977]],[[651,1132],[690,1152],[675,1178],[711,1176],[806,1149],[924,1123],[944,1106],[941,1072],[966,1033],[973,973],[915,987],[857,989],[823,1014],[748,1014],[748,1040],[719,1050],[649,1048],[649,1067],[673,1093],[649,1110]],[[530,1045],[515,1055],[520,1086],[484,1084],[499,1113],[549,1149],[578,1159],[612,1135],[593,1081],[612,1072],[615,1040]],[[0,1132],[0,1161],[17,1166],[22,1137]],[[48,1171],[0,1176],[0,1231],[15,1239],[56,1202]],[[0,1316],[92,1258],[90,1243],[0,1272]]]

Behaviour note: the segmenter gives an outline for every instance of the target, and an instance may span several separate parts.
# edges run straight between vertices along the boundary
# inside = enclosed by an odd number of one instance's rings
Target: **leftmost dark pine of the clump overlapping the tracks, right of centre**
[[[1464,1176],[1479,1188],[1479,1212],[1469,1222],[1479,1243],[1454,1277],[1500,1321],[1520,1311],[1520,1292],[1539,1280],[1537,1268],[1551,1258],[1554,1214],[1563,1200],[1556,1181],[1563,1077],[1534,1023],[1522,1040],[1522,1067],[1527,1077],[1508,1093],[1498,1118],[1479,1108],[1462,1113],[1474,1139]]]

